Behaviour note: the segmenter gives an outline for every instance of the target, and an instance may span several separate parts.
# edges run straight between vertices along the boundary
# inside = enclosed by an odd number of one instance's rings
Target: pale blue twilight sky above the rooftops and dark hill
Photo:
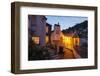
[[[75,24],[81,23],[85,20],[88,20],[87,17],[75,17],[75,16],[46,16],[47,22],[52,25],[52,29],[54,24],[61,25],[61,30],[74,26]]]

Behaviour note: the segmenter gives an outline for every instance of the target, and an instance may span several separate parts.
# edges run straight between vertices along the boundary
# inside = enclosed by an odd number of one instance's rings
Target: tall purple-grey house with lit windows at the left
[[[28,39],[41,46],[50,42],[51,25],[46,20],[42,15],[28,16]]]

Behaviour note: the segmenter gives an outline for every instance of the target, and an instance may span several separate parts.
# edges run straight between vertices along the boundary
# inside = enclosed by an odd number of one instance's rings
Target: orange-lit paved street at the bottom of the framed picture
[[[81,58],[80,55],[73,49],[64,49],[64,54],[55,53],[55,50],[49,50],[50,59],[76,59]]]

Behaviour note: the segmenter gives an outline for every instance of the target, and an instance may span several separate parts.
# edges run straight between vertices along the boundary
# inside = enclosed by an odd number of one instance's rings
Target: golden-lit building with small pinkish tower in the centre
[[[54,32],[51,34],[51,43],[59,47],[73,49],[74,46],[80,45],[80,38],[76,32],[63,34],[59,24],[54,25]]]

